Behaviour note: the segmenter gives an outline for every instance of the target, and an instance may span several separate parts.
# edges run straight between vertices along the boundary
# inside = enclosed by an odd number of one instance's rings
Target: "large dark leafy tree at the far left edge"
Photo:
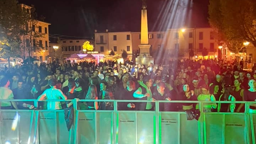
[[[0,57],[7,58],[20,54],[21,30],[26,23],[26,14],[16,0],[0,1]]]

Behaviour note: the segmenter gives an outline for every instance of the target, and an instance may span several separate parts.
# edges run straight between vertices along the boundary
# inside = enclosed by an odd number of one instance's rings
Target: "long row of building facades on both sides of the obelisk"
[[[189,58],[193,50],[196,58],[203,58],[202,51],[207,50],[204,58],[218,58],[218,38],[213,28],[169,29],[166,32],[148,32],[150,55],[155,60],[163,56],[169,60]],[[139,53],[140,32],[97,32],[95,30],[95,51],[109,54],[113,50],[121,54],[126,50],[128,54]],[[129,47],[130,46],[130,47]],[[177,53],[178,49],[178,53]]]

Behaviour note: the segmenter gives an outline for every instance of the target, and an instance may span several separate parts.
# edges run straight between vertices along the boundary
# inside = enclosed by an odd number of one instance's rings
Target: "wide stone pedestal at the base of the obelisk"
[[[135,59],[136,64],[140,64],[140,65],[149,65],[149,63],[154,64],[154,58],[152,58],[152,56],[150,56],[149,54],[150,47],[151,46],[149,44],[139,45],[140,55],[138,56],[138,58]]]

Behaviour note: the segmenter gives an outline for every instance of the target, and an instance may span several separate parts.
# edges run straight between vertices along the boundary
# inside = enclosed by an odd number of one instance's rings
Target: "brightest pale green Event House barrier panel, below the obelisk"
[[[155,111],[118,112],[117,142],[120,144],[154,144],[155,119]]]

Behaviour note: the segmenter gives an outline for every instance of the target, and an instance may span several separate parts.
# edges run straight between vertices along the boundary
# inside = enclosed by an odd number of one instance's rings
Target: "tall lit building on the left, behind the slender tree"
[[[20,4],[22,10],[30,12],[31,6]],[[23,54],[23,59],[28,58],[31,55],[35,59],[39,59],[40,62],[46,62],[47,57],[50,53],[49,49],[49,25],[50,23],[33,20],[29,21],[24,27],[27,32],[31,34],[26,34],[21,36],[22,43],[21,48]],[[36,35],[41,35],[41,37],[36,37]]]

